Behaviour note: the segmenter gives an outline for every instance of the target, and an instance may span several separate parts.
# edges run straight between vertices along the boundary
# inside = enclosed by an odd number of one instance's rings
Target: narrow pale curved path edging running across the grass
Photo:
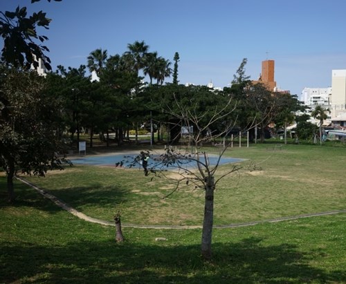
[[[44,191],[43,189],[40,189],[35,184],[32,184],[31,182],[28,182],[28,180],[24,178],[16,177],[17,180],[20,180],[21,182],[24,182],[25,184],[28,184],[30,187],[33,187],[33,189],[36,189],[39,193],[42,194],[42,196],[45,196],[46,198],[52,200],[55,202],[55,204],[62,209],[69,211],[74,216],[77,216],[78,218],[82,220],[86,220],[91,223],[97,223],[100,225],[106,225],[106,226],[115,226],[113,222],[108,222],[96,218],[92,218],[89,216],[86,216],[80,211],[75,210],[74,208],[70,207],[69,205],[66,205],[65,202],[62,200],[59,200],[55,196],[53,196],[51,193],[48,193]],[[309,217],[316,217],[316,216],[325,216],[325,215],[332,215],[332,214],[340,214],[340,213],[346,213],[346,210],[336,210],[336,211],[327,211],[327,212],[320,212],[320,213],[314,213],[314,214],[304,214],[304,215],[298,215],[298,216],[291,216],[291,217],[283,217],[283,218],[276,218],[276,219],[270,219],[270,220],[263,220],[263,221],[255,221],[255,222],[248,222],[248,223],[237,223],[237,224],[230,224],[230,225],[215,225],[215,229],[224,229],[224,228],[236,228],[236,227],[246,227],[246,226],[253,226],[258,225],[262,223],[276,223],[286,220],[296,220],[300,218],[309,218]],[[122,227],[131,227],[131,228],[143,228],[143,229],[201,229],[202,226],[166,226],[166,225],[134,225],[134,224],[121,224]]]

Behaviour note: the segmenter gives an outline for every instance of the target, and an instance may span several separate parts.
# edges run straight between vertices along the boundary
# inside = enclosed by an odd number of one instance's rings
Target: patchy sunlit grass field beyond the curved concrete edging
[[[208,149],[217,151],[217,149]],[[215,225],[268,220],[346,209],[346,149],[287,145],[233,148],[226,153],[249,159],[239,174],[224,178],[215,192]],[[248,171],[255,163],[259,171]],[[226,173],[230,164],[220,167]],[[168,173],[174,178],[174,173]],[[204,193],[184,187],[163,199],[175,186],[165,178],[145,177],[139,169],[75,166],[30,182],[55,194],[84,214],[138,225],[201,225]],[[188,205],[188,206],[187,206]]]

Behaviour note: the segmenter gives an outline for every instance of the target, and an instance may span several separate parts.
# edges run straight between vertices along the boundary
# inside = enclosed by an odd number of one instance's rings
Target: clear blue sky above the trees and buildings
[[[143,40],[172,64],[179,53],[181,84],[227,86],[243,58],[257,79],[262,61],[274,59],[277,86],[300,95],[331,86],[331,70],[346,69],[345,0],[0,0],[1,11],[17,6],[52,19],[39,35],[49,38],[54,70],[86,64],[96,48],[121,55]]]

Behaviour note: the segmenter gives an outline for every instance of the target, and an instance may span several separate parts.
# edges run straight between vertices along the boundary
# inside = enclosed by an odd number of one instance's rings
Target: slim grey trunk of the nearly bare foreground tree
[[[212,223],[214,220],[214,177],[206,182],[206,195],[204,200],[204,218],[202,229],[201,254],[206,260],[212,257]]]

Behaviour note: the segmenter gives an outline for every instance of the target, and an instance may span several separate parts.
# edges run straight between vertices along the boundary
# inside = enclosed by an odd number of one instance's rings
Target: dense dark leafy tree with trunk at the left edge
[[[15,200],[16,171],[44,176],[62,169],[64,156],[60,104],[46,95],[35,72],[1,67],[0,167],[6,171],[8,200]]]

